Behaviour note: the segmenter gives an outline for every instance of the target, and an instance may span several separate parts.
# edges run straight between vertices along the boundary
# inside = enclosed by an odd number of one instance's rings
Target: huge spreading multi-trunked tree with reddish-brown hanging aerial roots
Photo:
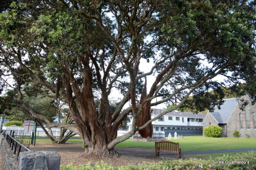
[[[0,15],[0,83],[14,88],[20,107],[41,120],[23,100],[24,84],[65,100],[76,126],[44,123],[79,134],[87,154],[116,154],[114,146],[136,131],[152,135],[151,122],[189,95],[191,103],[201,101],[197,110],[210,109],[222,103],[222,86],[243,82],[255,99],[254,1],[19,2]],[[214,80],[218,75],[226,79]],[[6,81],[10,77],[15,83]],[[123,98],[111,114],[113,89]],[[175,107],[151,119],[151,106],[172,100]],[[130,113],[132,129],[117,137]]]

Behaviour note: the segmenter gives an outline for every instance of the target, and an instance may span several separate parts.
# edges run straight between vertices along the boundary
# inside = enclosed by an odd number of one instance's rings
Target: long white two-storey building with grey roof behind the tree
[[[151,111],[152,119],[165,110],[152,108]],[[203,120],[205,116],[206,114],[204,113],[196,114],[193,112],[181,112],[175,110],[161,116],[158,120],[153,121],[153,132],[161,132],[164,131],[164,129],[203,129]],[[127,124],[127,127],[120,130],[131,130],[131,122]]]

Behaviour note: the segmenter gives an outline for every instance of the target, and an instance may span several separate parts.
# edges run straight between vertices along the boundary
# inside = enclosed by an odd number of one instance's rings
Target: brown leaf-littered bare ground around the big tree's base
[[[51,142],[37,142],[36,146],[30,146],[31,150],[48,150],[57,151],[61,156],[61,164],[66,165],[73,163],[74,165],[84,164],[91,162],[93,165],[95,162],[104,161],[105,163],[112,164],[113,166],[122,166],[145,162],[159,162],[162,158],[155,158],[155,155],[142,155],[142,154],[130,154],[120,152],[118,156],[110,157],[95,157],[86,156],[81,143],[66,143],[66,144],[52,144]]]

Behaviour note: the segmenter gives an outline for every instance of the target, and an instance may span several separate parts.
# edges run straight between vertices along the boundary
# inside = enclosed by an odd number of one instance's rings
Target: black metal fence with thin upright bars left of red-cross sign
[[[29,148],[30,143],[33,144],[32,142],[34,138],[34,132],[27,134],[19,127],[7,128],[5,132],[6,134],[10,134],[13,138],[22,143],[22,145],[26,146],[27,148]]]

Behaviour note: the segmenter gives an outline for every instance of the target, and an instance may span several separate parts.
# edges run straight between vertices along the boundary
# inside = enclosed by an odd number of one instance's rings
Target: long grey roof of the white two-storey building
[[[152,108],[152,114],[157,114],[159,115],[160,113],[166,111],[165,109],[159,109],[159,108]],[[172,111],[172,112],[168,112],[165,115],[169,115],[169,116],[184,116],[184,117],[191,117],[191,118],[202,118],[204,119],[206,114],[204,113],[193,113],[193,112],[181,112],[181,111]]]

